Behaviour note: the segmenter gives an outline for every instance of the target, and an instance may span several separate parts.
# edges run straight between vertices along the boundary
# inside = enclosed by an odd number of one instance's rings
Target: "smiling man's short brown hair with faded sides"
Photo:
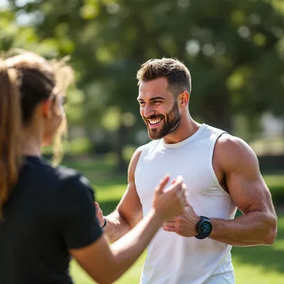
[[[190,70],[176,58],[150,59],[141,65],[136,78],[138,85],[141,82],[165,77],[168,81],[168,89],[176,96],[181,92],[191,92]]]

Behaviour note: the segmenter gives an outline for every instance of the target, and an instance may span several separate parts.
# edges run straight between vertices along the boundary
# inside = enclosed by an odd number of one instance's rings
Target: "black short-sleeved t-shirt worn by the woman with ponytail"
[[[0,283],[72,283],[68,249],[102,236],[94,194],[76,170],[26,157],[0,222]]]

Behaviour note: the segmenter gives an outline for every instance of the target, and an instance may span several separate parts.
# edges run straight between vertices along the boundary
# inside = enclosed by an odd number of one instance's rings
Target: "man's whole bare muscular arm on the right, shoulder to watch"
[[[210,219],[213,230],[209,238],[233,246],[273,244],[277,219],[256,154],[241,139],[224,135],[217,141],[214,158],[224,171],[226,187],[243,215],[233,220]]]

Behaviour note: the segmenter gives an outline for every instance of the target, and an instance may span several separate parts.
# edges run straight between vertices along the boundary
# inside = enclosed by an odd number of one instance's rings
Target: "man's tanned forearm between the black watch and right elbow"
[[[249,212],[233,220],[210,219],[209,238],[232,246],[270,245],[275,240],[275,217],[263,212]]]

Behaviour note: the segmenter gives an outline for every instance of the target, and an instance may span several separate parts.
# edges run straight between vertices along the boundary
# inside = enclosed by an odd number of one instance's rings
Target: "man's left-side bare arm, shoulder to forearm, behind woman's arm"
[[[130,229],[143,218],[142,206],[136,192],[134,173],[141,155],[141,148],[133,154],[129,163],[128,185],[124,196],[121,198],[116,210],[107,217],[105,233],[109,241],[114,242],[124,236]]]

